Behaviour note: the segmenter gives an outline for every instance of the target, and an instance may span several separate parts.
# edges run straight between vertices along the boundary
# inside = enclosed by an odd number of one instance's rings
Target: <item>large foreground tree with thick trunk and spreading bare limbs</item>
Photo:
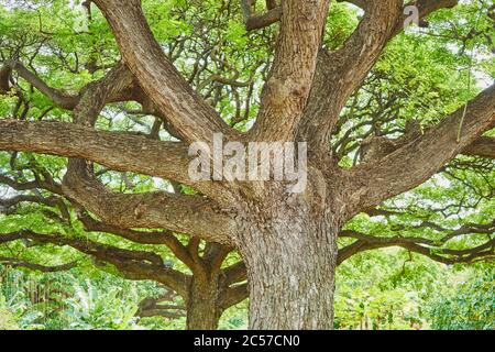
[[[235,249],[245,263],[253,329],[332,328],[336,267],[346,255],[362,250],[400,245],[447,262],[493,255],[492,237],[470,250],[442,250],[446,257],[431,253],[431,246],[442,245],[451,237],[439,243],[341,232],[360,212],[380,212],[377,206],[425,183],[459,154],[493,157],[493,138],[482,135],[495,125],[495,88],[491,86],[469,102],[458,103],[457,110],[451,109],[426,131],[405,129],[398,139],[380,135],[367,140],[362,143],[363,157],[355,165],[342,165],[343,156],[352,148],[341,148],[339,155],[330,143],[339,138],[340,118],[345,117],[342,112],[386,45],[402,32],[407,20],[404,8],[409,3],[352,1],[364,11],[359,25],[340,46],[324,47],[327,14],[332,15],[336,7],[332,3],[329,10],[329,2],[287,0],[274,7],[270,1],[267,12],[260,15],[254,13],[254,3],[242,1],[246,30],[279,23],[256,121],[244,132],[232,127],[235,119],[228,124],[212,108],[221,99],[209,105],[172,65],[172,55],[167,57],[154,37],[139,0],[94,1],[111,26],[122,62],[98,84],[76,95],[52,89],[15,61],[4,63],[0,70],[3,92],[10,91],[11,74],[16,72],[57,106],[74,110],[74,114],[72,123],[1,120],[0,148],[69,157],[61,194],[107,227],[119,231],[160,229],[188,234],[191,241],[202,239]],[[228,10],[222,11],[230,14],[230,6],[228,1]],[[457,1],[418,1],[415,6],[425,20],[437,10],[455,7]],[[488,18],[493,14],[493,8],[481,8],[488,10]],[[482,35],[471,33],[476,40]],[[222,77],[210,80],[226,82]],[[239,85],[232,80],[227,84]],[[255,86],[251,85],[251,94],[244,97],[248,101]],[[228,95],[233,96],[234,90]],[[238,95],[235,101],[242,99]],[[107,103],[128,100],[140,102],[155,114],[179,141],[95,129]],[[216,133],[242,143],[307,142],[305,191],[289,194],[285,183],[275,180],[191,179],[188,145],[212,144]],[[116,193],[98,180],[92,163],[161,177],[195,193]],[[480,229],[474,228],[458,232]],[[493,233],[493,229],[486,231]],[[340,251],[340,260],[339,233],[358,240]],[[26,231],[21,234],[32,235]],[[155,257],[144,260],[152,264],[141,262],[140,270],[146,266],[155,273],[153,265],[161,265]],[[201,289],[205,292],[205,286]]]

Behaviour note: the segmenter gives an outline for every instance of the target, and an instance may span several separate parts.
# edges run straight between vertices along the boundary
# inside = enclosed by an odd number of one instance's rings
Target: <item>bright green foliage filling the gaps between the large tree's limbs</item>
[[[345,42],[361,15],[344,3],[332,6],[323,41],[329,50]],[[362,142],[369,136],[396,138],[413,120],[425,130],[493,80],[493,23],[481,15],[488,7],[490,1],[464,1],[454,10],[436,12],[429,18],[428,29],[408,30],[387,46],[337,127],[334,152],[342,166],[360,162]],[[69,92],[101,78],[119,59],[119,53],[101,13],[94,7],[88,21],[81,10],[80,1],[4,1],[0,6],[0,63],[19,59],[50,86],[64,87]],[[270,70],[271,41],[276,30],[248,33],[239,2],[234,1],[146,0],[144,10],[154,35],[177,69],[227,122],[242,131],[249,129],[257,113],[261,82]],[[215,80],[219,73],[235,85]],[[0,117],[70,120],[70,113],[54,107],[23,79],[14,78],[19,90],[0,97]],[[98,128],[148,133],[154,118],[140,108],[133,102],[110,105],[98,120]],[[165,130],[160,135],[172,139]],[[441,242],[446,234],[465,224],[488,226],[495,216],[494,165],[494,161],[459,156],[424,185],[383,204],[381,210],[391,211],[392,216],[359,215],[345,229],[381,238],[421,237]],[[1,175],[18,182],[50,175],[61,183],[65,168],[66,160],[61,157],[0,153]],[[166,180],[107,170],[99,165],[97,172],[99,179],[116,191],[145,193],[172,187]],[[194,193],[187,187],[183,191]],[[18,193],[0,185],[2,199],[36,193],[51,196],[45,190]],[[153,250],[174,268],[189,274],[166,246],[142,245],[108,233],[85,231],[75,209],[68,201],[64,204],[69,210],[63,221],[61,205],[26,202],[9,215],[0,208],[0,233],[31,229],[119,249]],[[436,250],[440,253],[442,249],[469,249],[483,243],[485,235],[455,237],[439,243],[440,249]],[[178,239],[185,242],[182,235]],[[350,239],[339,239],[341,248],[350,243]],[[184,318],[135,317],[140,300],[161,290],[156,284],[129,282],[111,265],[102,265],[67,246],[26,241],[0,244],[0,255],[12,253],[50,265],[77,260],[78,268],[54,274],[10,268],[1,283],[0,329],[185,327]],[[460,278],[462,283],[452,285]],[[45,297],[31,287],[33,280]],[[365,252],[341,265],[337,286],[336,323],[341,329],[494,329],[494,276],[490,266],[472,271],[447,268],[405,250]],[[245,328],[246,305],[244,301],[226,311],[220,329]]]

